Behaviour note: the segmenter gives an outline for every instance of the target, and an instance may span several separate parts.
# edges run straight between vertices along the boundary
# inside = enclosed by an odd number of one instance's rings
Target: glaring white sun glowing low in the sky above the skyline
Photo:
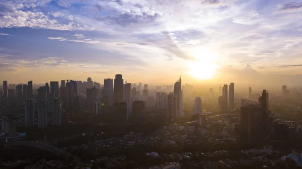
[[[188,61],[188,74],[199,80],[211,79],[216,74],[218,65],[214,63],[217,56],[206,49],[192,52],[196,60]]]

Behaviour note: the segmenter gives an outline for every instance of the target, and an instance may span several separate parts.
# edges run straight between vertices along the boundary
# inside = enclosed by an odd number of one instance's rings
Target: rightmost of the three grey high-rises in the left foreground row
[[[55,98],[53,102],[52,125],[59,126],[62,124],[63,103],[60,98]]]

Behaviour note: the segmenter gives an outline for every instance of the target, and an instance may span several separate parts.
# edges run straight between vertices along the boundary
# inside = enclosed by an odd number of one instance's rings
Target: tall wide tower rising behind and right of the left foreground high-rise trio
[[[78,95],[77,81],[67,80],[66,83],[66,109],[74,108],[74,98]]]

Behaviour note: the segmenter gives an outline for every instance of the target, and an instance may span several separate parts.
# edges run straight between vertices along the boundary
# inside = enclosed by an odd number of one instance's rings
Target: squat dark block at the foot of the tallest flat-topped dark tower
[[[129,119],[128,104],[126,102],[115,102],[113,109],[117,115],[117,121],[120,123],[127,123]]]

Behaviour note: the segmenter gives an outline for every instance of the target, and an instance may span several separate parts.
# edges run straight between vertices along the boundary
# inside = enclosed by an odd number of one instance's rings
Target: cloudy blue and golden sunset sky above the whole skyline
[[[302,83],[302,1],[0,1],[0,79]]]

